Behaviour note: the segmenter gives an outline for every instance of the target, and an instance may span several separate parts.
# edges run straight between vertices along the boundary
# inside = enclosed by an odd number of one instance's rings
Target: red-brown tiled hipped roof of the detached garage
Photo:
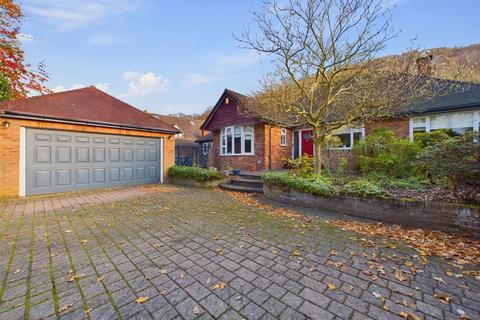
[[[0,102],[0,116],[180,133],[173,126],[90,86],[42,96]]]

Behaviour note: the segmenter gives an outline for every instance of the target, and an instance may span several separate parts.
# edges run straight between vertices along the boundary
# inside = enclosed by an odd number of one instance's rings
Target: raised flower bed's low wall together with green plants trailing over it
[[[391,198],[372,186],[346,185],[339,190],[328,179],[285,173],[269,173],[263,180],[267,198],[288,204],[411,227],[480,234],[480,207],[475,205]]]

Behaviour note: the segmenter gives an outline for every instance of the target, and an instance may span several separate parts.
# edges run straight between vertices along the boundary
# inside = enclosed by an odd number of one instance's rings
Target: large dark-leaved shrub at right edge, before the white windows
[[[417,157],[417,168],[437,180],[449,181],[460,199],[480,202],[480,143],[467,134],[438,142]]]

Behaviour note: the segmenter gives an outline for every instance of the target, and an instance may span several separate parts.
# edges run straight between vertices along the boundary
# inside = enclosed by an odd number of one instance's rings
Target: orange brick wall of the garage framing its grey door
[[[3,118],[0,118],[0,122],[2,121]],[[175,163],[175,139],[169,140],[169,135],[164,133],[19,119],[8,119],[8,122],[10,122],[8,128],[0,127],[0,155],[2,165],[0,168],[0,197],[15,197],[19,194],[20,127],[82,131],[89,133],[120,134],[155,138],[163,137],[165,138],[163,155],[164,177],[167,176],[168,168],[173,166]]]

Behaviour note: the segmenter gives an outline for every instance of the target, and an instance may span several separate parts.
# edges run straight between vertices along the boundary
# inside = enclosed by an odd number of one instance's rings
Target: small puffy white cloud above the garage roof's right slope
[[[125,95],[147,96],[152,93],[163,93],[170,84],[170,80],[157,76],[153,72],[140,73],[127,70],[123,73],[122,79],[130,81]]]

